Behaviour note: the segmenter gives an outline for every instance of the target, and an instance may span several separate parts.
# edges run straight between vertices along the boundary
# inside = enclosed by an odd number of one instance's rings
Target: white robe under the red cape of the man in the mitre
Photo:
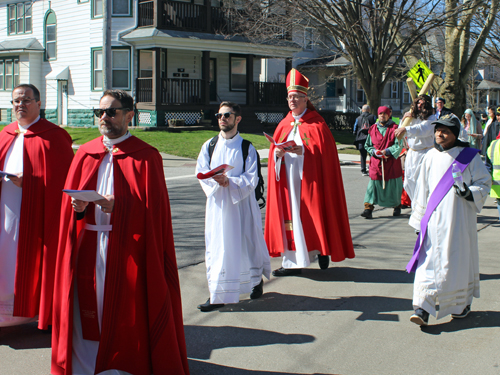
[[[304,116],[307,109],[300,115],[293,115],[295,121]],[[290,125],[292,126],[292,125]],[[302,187],[302,172],[304,170],[304,144],[300,136],[300,125],[297,125],[288,134],[287,141],[295,141],[297,146],[302,147],[302,155],[293,154],[291,152],[285,153],[285,168],[286,180],[289,188],[289,201],[292,211],[292,228],[293,240],[295,242],[295,250],[284,249],[283,251],[283,268],[305,268],[309,267],[317,255],[319,250],[307,250],[306,238],[304,236],[304,229],[302,228],[302,220],[300,219],[300,194]],[[275,159],[276,181],[279,181],[281,170],[281,158]],[[283,231],[283,243],[287,244],[286,233]]]

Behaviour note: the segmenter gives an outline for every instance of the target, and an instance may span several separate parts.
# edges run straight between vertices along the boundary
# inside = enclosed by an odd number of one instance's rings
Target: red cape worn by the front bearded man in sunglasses
[[[106,152],[102,137],[80,147],[66,188],[94,190]],[[134,375],[188,374],[170,203],[161,156],[134,136],[116,145],[112,152],[115,205],[95,373],[116,369]],[[96,251],[94,247],[93,257],[79,254],[77,239],[91,218],[86,215],[77,220],[70,202],[65,196],[61,208],[52,329],[52,373],[68,375],[72,373],[76,262],[95,259]],[[88,289],[89,285],[78,284],[79,290],[80,287]]]

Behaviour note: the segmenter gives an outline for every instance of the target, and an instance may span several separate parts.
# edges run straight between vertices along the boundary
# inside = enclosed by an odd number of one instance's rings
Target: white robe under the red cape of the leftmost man
[[[24,133],[28,126],[19,126],[19,135],[10,145],[1,167],[4,172],[23,173]],[[16,277],[17,246],[19,244],[19,220],[23,189],[5,176],[0,196],[0,327],[13,326],[36,321],[38,317],[12,316],[14,311],[14,284]]]

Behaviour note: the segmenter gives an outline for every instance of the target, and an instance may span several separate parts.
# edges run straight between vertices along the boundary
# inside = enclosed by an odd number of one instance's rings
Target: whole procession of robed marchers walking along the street
[[[258,153],[238,132],[240,106],[220,104],[220,133],[196,166],[207,197],[201,311],[260,298],[271,273],[355,256],[335,140],[308,83],[295,69],[286,78],[290,112],[270,145],[264,228]],[[94,109],[101,136],[75,155],[67,132],[40,117],[35,86],[17,86],[12,105],[17,121],[0,136],[0,327],[51,327],[52,374],[189,373],[162,158],[128,131],[132,97],[104,92]],[[398,216],[402,197],[411,207],[410,320],[465,318],[479,297],[477,214],[490,189],[500,197],[500,108],[481,131],[470,113],[461,123],[426,95],[406,127],[389,107],[369,111],[355,126],[370,177],[362,216],[372,219],[375,205]],[[272,272],[270,257],[281,257]]]

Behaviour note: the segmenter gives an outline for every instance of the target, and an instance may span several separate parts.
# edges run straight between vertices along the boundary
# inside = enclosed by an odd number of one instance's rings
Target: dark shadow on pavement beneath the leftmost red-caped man
[[[15,350],[50,348],[51,331],[37,328],[38,323],[2,327],[0,346],[6,345]]]

